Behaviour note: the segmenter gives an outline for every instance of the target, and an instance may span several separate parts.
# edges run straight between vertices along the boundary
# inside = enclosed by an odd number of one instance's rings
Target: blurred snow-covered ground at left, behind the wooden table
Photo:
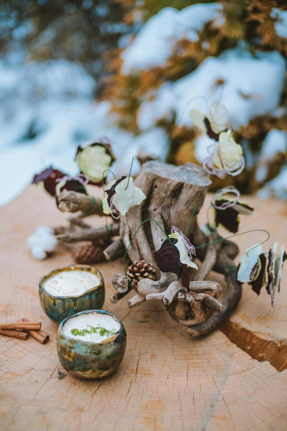
[[[141,147],[164,159],[166,132],[153,128],[135,137],[119,129],[116,118],[108,115],[110,103],[94,102],[94,89],[93,79],[74,63],[59,60],[21,68],[0,63],[0,205],[51,164],[75,175],[77,146],[86,140],[110,139],[117,156],[112,168],[116,176],[129,173]],[[137,172],[135,159],[132,173]]]

